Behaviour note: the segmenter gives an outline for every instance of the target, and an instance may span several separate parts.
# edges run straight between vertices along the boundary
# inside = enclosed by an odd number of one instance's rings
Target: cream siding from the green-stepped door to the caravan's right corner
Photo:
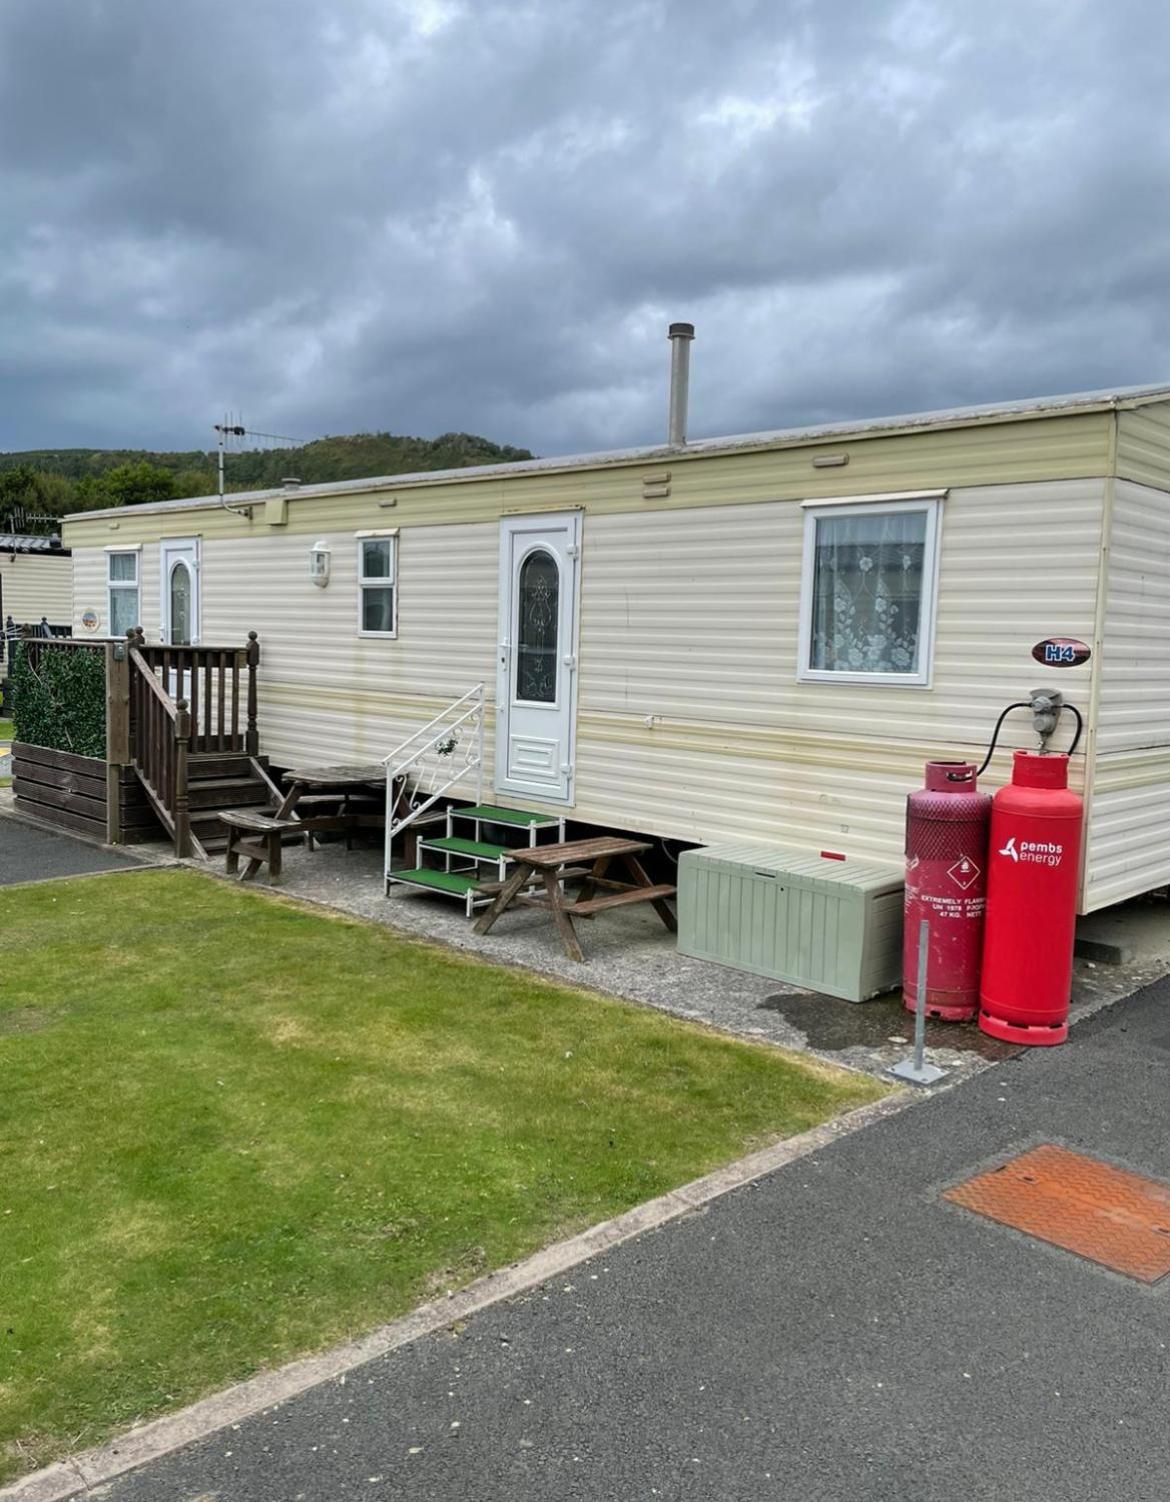
[[[898,859],[922,763],[982,760],[999,710],[1053,677],[1032,646],[1092,635],[1102,491],[949,493],[931,688],[798,682],[799,505],[587,520],[575,817]],[[1060,676],[1081,706],[1090,673]],[[1033,743],[1012,716],[987,786]]]

